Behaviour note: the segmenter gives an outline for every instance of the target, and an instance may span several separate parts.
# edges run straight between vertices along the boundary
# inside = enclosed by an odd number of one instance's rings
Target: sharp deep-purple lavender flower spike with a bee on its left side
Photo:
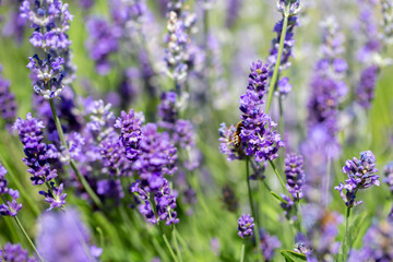
[[[262,109],[269,64],[259,60],[251,64],[250,70],[247,92],[240,96],[241,122],[236,128],[230,126],[229,129],[222,123],[221,150],[229,160],[241,158],[242,154],[253,156],[259,163],[273,160],[278,156],[278,148],[284,146],[284,142],[275,130],[276,123]],[[240,141],[236,142],[239,139]]]

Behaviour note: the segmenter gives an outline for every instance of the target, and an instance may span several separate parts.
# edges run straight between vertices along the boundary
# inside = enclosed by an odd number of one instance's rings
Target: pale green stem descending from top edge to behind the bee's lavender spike
[[[278,79],[279,63],[281,63],[281,58],[282,58],[282,55],[283,55],[284,40],[285,40],[285,37],[286,37],[286,31],[287,31],[287,26],[288,26],[289,5],[290,5],[290,1],[288,1],[288,4],[287,4],[287,7],[285,9],[285,13],[284,13],[284,23],[283,23],[282,34],[281,34],[281,37],[279,37],[277,60],[276,60],[276,64],[274,67],[273,76],[272,76],[270,87],[269,87],[269,96],[267,96],[267,103],[266,103],[266,108],[265,108],[266,114],[269,114],[269,110],[270,110],[270,107],[271,107],[271,104],[272,104],[274,87],[275,87],[277,79]]]

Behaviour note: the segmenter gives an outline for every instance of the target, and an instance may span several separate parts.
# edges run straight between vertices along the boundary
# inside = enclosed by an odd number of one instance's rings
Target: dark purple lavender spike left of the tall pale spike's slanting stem
[[[48,145],[43,142],[43,130],[45,126],[41,121],[26,115],[26,119],[17,118],[12,127],[20,136],[23,150],[26,155],[23,162],[32,174],[33,184],[43,184],[57,177],[57,170],[49,165]]]

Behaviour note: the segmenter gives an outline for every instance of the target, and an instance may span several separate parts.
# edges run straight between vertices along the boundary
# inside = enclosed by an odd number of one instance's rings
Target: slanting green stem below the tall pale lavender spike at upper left
[[[55,124],[56,124],[56,129],[59,133],[59,138],[60,138],[60,142],[61,144],[66,147],[66,151],[69,152],[67,143],[66,143],[66,139],[64,139],[64,133],[63,130],[61,128],[61,123],[60,123],[60,119],[59,116],[56,111],[56,107],[55,107],[55,103],[53,99],[49,99],[49,104],[50,104],[50,110],[52,112],[52,117],[55,120]],[[93,202],[100,209],[103,209],[103,203],[100,202],[99,198],[97,196],[97,194],[93,191],[93,189],[91,188],[91,186],[88,184],[88,182],[86,181],[86,179],[82,176],[82,174],[79,171],[73,159],[70,159],[70,165],[71,168],[74,170],[74,172],[76,174],[76,177],[80,179],[80,181],[82,182],[83,188],[86,190],[87,194],[91,196],[91,199],[93,200]]]

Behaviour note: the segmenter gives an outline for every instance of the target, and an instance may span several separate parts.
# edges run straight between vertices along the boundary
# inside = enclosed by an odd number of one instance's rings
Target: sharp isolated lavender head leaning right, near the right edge
[[[340,183],[334,189],[340,191],[340,194],[348,207],[359,205],[362,201],[356,202],[356,193],[360,189],[367,189],[373,184],[379,186],[379,176],[374,175],[378,171],[376,168],[376,157],[371,151],[360,153],[360,159],[356,157],[353,160],[348,159],[343,167],[343,172],[348,176],[345,184]],[[346,194],[344,194],[346,189]]]

